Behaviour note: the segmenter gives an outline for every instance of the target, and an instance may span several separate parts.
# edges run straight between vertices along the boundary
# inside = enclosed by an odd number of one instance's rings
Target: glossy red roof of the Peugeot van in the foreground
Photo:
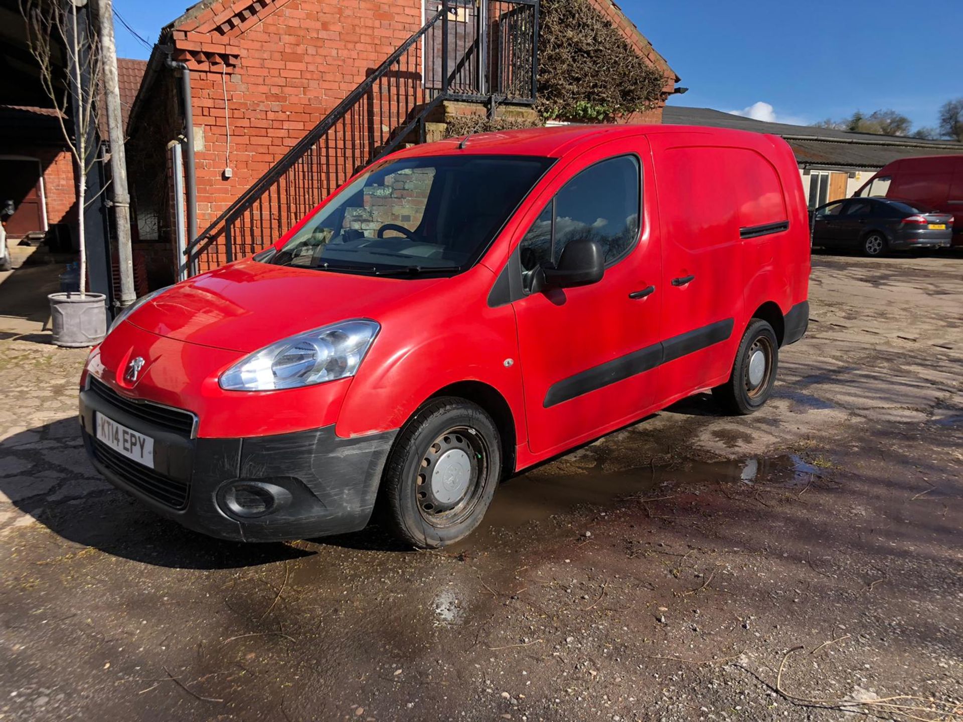
[[[560,125],[551,128],[526,128],[523,130],[494,131],[472,136],[450,138],[445,141],[414,145],[398,153],[398,156],[427,156],[452,153],[475,155],[533,155],[559,158],[565,153],[600,141],[614,141],[639,135],[678,135],[698,133],[718,141],[746,140],[750,146],[757,145],[759,133],[725,128],[708,128],[698,125]],[[467,138],[467,142],[465,142]],[[464,142],[464,147],[459,145]]]

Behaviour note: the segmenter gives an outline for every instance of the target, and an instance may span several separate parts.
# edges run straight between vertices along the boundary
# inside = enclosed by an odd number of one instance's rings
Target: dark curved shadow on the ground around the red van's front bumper
[[[282,543],[223,541],[157,516],[97,473],[75,417],[21,431],[0,443],[0,493],[68,541],[145,564],[233,569],[313,554]]]

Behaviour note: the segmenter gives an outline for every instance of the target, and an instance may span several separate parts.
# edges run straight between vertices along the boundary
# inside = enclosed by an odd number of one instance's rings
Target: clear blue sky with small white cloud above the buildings
[[[919,127],[963,96],[963,0],[618,2],[690,88],[675,105],[797,123],[892,108]],[[189,4],[115,0],[150,43]],[[148,55],[120,23],[117,49]]]

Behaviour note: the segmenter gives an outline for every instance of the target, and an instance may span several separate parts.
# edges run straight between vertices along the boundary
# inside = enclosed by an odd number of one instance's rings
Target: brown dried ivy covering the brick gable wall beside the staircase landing
[[[587,0],[541,0],[538,112],[606,121],[654,108],[665,79]]]

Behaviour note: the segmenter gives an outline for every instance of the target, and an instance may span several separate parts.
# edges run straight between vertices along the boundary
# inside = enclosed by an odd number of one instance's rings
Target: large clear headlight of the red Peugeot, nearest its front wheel
[[[221,374],[221,388],[278,391],[353,376],[380,329],[374,321],[346,321],[278,341]]]

